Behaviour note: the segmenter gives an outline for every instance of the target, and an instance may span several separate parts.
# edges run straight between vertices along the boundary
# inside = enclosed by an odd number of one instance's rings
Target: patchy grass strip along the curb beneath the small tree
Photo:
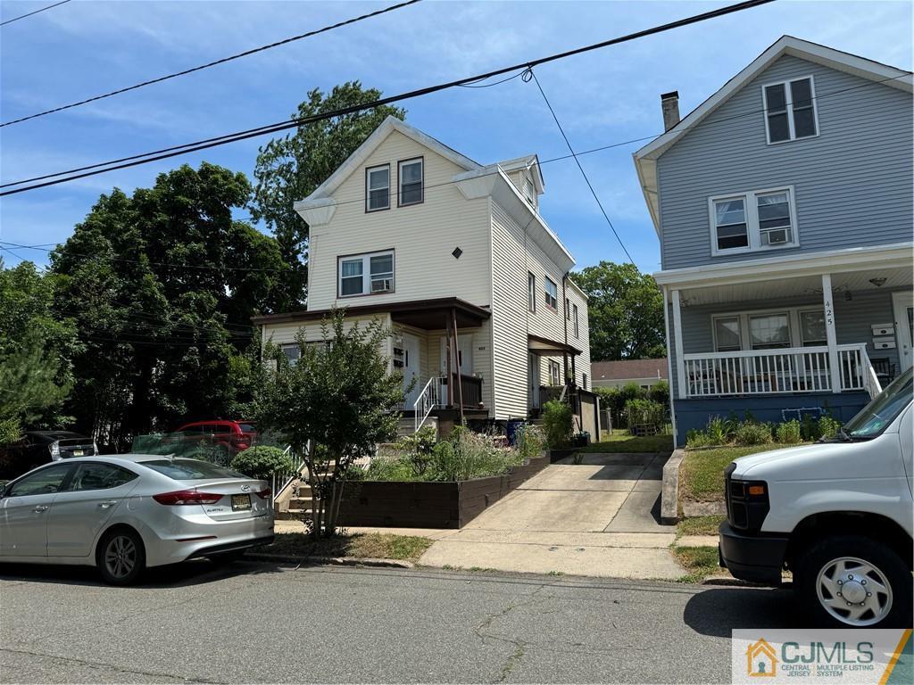
[[[257,552],[289,556],[350,556],[359,559],[401,559],[419,561],[431,546],[429,538],[418,535],[390,535],[380,532],[356,532],[337,535],[316,543],[304,532],[280,532],[276,541]]]

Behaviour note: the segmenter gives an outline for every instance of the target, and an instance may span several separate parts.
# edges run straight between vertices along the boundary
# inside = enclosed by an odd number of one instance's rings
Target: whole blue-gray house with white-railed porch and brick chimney
[[[676,444],[711,416],[853,416],[911,365],[912,79],[794,37],[634,154]]]

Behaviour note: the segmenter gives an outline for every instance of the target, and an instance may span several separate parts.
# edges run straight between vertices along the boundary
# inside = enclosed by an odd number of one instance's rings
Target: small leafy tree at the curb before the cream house
[[[304,455],[315,538],[335,534],[349,467],[397,435],[403,406],[403,375],[388,373],[381,353],[390,331],[379,321],[346,330],[344,320],[340,310],[324,319],[323,343],[299,332],[295,364],[268,345],[276,369],[254,405],[258,426],[282,432]]]

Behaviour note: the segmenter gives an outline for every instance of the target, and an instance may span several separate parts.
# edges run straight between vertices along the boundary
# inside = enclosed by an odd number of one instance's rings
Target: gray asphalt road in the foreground
[[[724,682],[787,590],[207,561],[0,566],[2,682]]]

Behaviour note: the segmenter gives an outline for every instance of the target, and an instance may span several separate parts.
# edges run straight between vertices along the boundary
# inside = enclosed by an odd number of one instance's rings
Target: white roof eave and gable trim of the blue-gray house
[[[888,88],[904,90],[905,92],[914,91],[914,80],[912,80],[912,75],[909,71],[889,67],[872,59],[862,58],[848,52],[835,50],[832,47],[819,45],[818,43],[811,43],[808,40],[782,36],[771,47],[761,53],[758,58],[753,60],[748,67],[744,68],[732,79],[729,79],[723,88],[717,90],[714,95],[702,102],[672,129],[654,138],[652,142],[647,143],[641,150],[632,155],[638,172],[638,180],[641,182],[644,200],[647,202],[647,207],[651,212],[651,218],[654,220],[654,229],[657,231],[658,236],[660,235],[660,211],[657,199],[657,158],[675,145],[686,132],[701,121],[704,121],[712,112],[717,111],[717,108],[732,98],[751,79],[754,79],[776,59],[784,55],[791,55],[792,57],[821,64],[824,67],[844,71],[861,79],[877,81]]]

